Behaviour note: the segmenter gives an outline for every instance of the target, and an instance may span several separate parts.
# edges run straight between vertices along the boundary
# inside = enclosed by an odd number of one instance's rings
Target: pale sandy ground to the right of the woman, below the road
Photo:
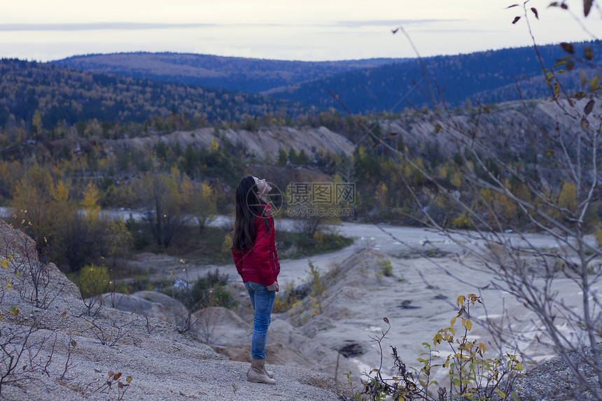
[[[280,229],[290,225],[289,222],[276,224],[279,224]],[[486,328],[477,324],[479,318],[486,320],[488,317],[491,322],[501,322],[505,328],[512,328],[516,337],[504,337],[504,345],[520,349],[528,359],[540,362],[554,356],[554,353],[535,339],[541,334],[535,316],[514,300],[512,295],[488,287],[495,276],[491,272],[479,270],[476,260],[465,259],[461,249],[453,241],[436,232],[414,227],[344,223],[337,230],[355,238],[354,244],[334,253],[282,260],[279,283],[283,288],[291,281],[295,284],[307,281],[309,260],[321,272],[328,272],[336,265],[348,265],[354,260],[359,262],[359,270],[350,273],[356,275],[357,280],[349,283],[349,279],[344,279],[338,286],[337,283],[331,284],[327,301],[330,309],[326,308],[322,317],[310,318],[300,328],[314,342],[330,349],[341,349],[345,344],[358,344],[360,353],[350,357],[357,365],[358,372],[367,372],[380,364],[378,344],[371,337],[381,335],[388,328],[383,321],[384,317],[391,323],[391,330],[381,342],[384,349],[383,367],[388,368],[393,363],[390,346],[397,348],[407,365],[418,367],[416,357],[425,351],[422,343],[432,343],[437,330],[449,325],[451,318],[456,315],[456,297],[468,293],[480,295],[485,305],[472,310],[475,328],[471,330],[469,338],[484,342],[490,350],[489,356],[497,356],[499,350],[505,349],[493,342]],[[508,233],[507,236],[519,241],[516,234]],[[526,239],[531,246],[538,248],[556,246],[554,239],[545,235],[530,234]],[[444,256],[430,260],[420,257],[421,252],[433,246],[444,251]],[[378,277],[379,267],[374,258],[367,256],[371,254],[367,251],[374,252],[377,258],[388,259],[393,266],[393,276]],[[204,269],[214,268],[211,266]],[[221,272],[228,272],[231,277],[237,278],[233,265],[219,268]],[[543,279],[540,282],[543,284]],[[602,289],[600,283],[596,283],[595,288]],[[573,280],[556,279],[554,290],[557,291],[557,300],[561,300],[575,313],[580,313],[580,288]],[[281,315],[274,318],[294,321],[295,316]],[[559,325],[566,323],[562,318],[557,322]],[[458,325],[456,323],[456,327]],[[447,356],[449,351],[443,347],[440,349],[440,355]],[[340,377],[341,372],[338,373],[339,380],[346,380]],[[356,377],[356,372],[352,373]]]

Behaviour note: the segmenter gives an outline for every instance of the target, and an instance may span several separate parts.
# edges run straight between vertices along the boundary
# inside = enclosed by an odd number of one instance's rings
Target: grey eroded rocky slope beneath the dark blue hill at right
[[[550,101],[514,101],[481,111],[470,108],[443,115],[412,113],[394,120],[381,120],[380,125],[381,132],[395,132],[404,145],[422,157],[430,154],[446,159],[458,152],[458,145],[470,147],[480,144],[482,149],[493,150],[494,154],[529,155],[528,160],[535,155],[541,157],[551,150],[552,139],[562,138],[568,151],[574,151],[577,146],[570,144],[574,141],[575,129],[579,124],[575,122],[575,116],[596,126],[602,115],[601,104],[595,104],[591,113],[584,115],[587,103],[588,99],[574,101],[573,106],[566,101],[560,101],[559,104]],[[441,126],[439,132],[435,129],[437,124]],[[549,138],[542,132],[546,132]],[[472,139],[476,142],[472,142]],[[587,155],[591,153],[591,147],[589,142],[583,142],[581,151]]]

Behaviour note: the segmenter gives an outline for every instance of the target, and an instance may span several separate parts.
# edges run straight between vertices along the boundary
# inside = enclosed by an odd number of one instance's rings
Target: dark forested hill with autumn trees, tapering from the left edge
[[[174,129],[255,115],[299,115],[307,106],[223,89],[78,71],[54,64],[0,59],[0,129],[31,132],[97,120],[106,125],[176,122]]]

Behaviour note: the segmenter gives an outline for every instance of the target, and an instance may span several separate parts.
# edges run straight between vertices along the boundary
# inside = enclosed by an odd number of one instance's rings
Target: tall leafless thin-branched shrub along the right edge
[[[531,17],[537,16],[527,3],[515,22],[530,24]],[[455,150],[449,162],[459,185],[451,187],[435,171],[416,163],[414,155],[389,146],[378,136],[373,138],[422,176],[433,197],[447,202],[451,216],[435,216],[419,188],[406,182],[421,223],[469,255],[461,258],[463,265],[491,274],[487,288],[509,293],[532,314],[527,321],[512,317],[503,324],[489,325],[500,354],[505,344],[537,342],[566,364],[574,399],[602,400],[601,275],[592,268],[599,265],[602,252],[589,236],[596,228],[601,189],[601,68],[591,62],[592,48],[585,48],[583,55],[569,43],[562,48],[566,57],[548,67],[534,42],[551,101],[535,108],[521,101],[531,129],[520,140],[532,157],[521,157],[510,142],[495,146],[484,125],[493,113],[488,106],[479,104],[470,120],[449,111],[437,82],[426,70],[424,93],[434,111],[422,111],[429,124],[423,126],[421,135],[425,139],[437,135],[441,143]],[[564,90],[559,74],[575,66],[593,69],[594,76],[584,78],[582,92],[571,94]],[[520,93],[518,81],[517,90]],[[538,246],[528,230],[546,234],[553,244]],[[565,302],[556,290],[567,279],[573,282],[571,292],[578,291],[577,307]],[[524,323],[538,328],[534,338],[520,331]]]

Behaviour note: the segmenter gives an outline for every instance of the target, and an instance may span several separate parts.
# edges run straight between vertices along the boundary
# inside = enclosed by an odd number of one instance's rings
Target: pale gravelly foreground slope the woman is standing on
[[[52,263],[41,264],[33,241],[2,220],[0,244],[0,391],[7,400],[338,399],[332,376],[270,365],[278,384],[251,384],[248,364],[228,360],[193,332],[107,306],[90,316],[76,286]],[[32,277],[41,278],[40,307]]]

